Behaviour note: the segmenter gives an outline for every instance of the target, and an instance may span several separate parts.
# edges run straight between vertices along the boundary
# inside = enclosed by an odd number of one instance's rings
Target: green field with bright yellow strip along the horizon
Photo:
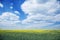
[[[60,30],[0,30],[0,40],[60,40]]]

